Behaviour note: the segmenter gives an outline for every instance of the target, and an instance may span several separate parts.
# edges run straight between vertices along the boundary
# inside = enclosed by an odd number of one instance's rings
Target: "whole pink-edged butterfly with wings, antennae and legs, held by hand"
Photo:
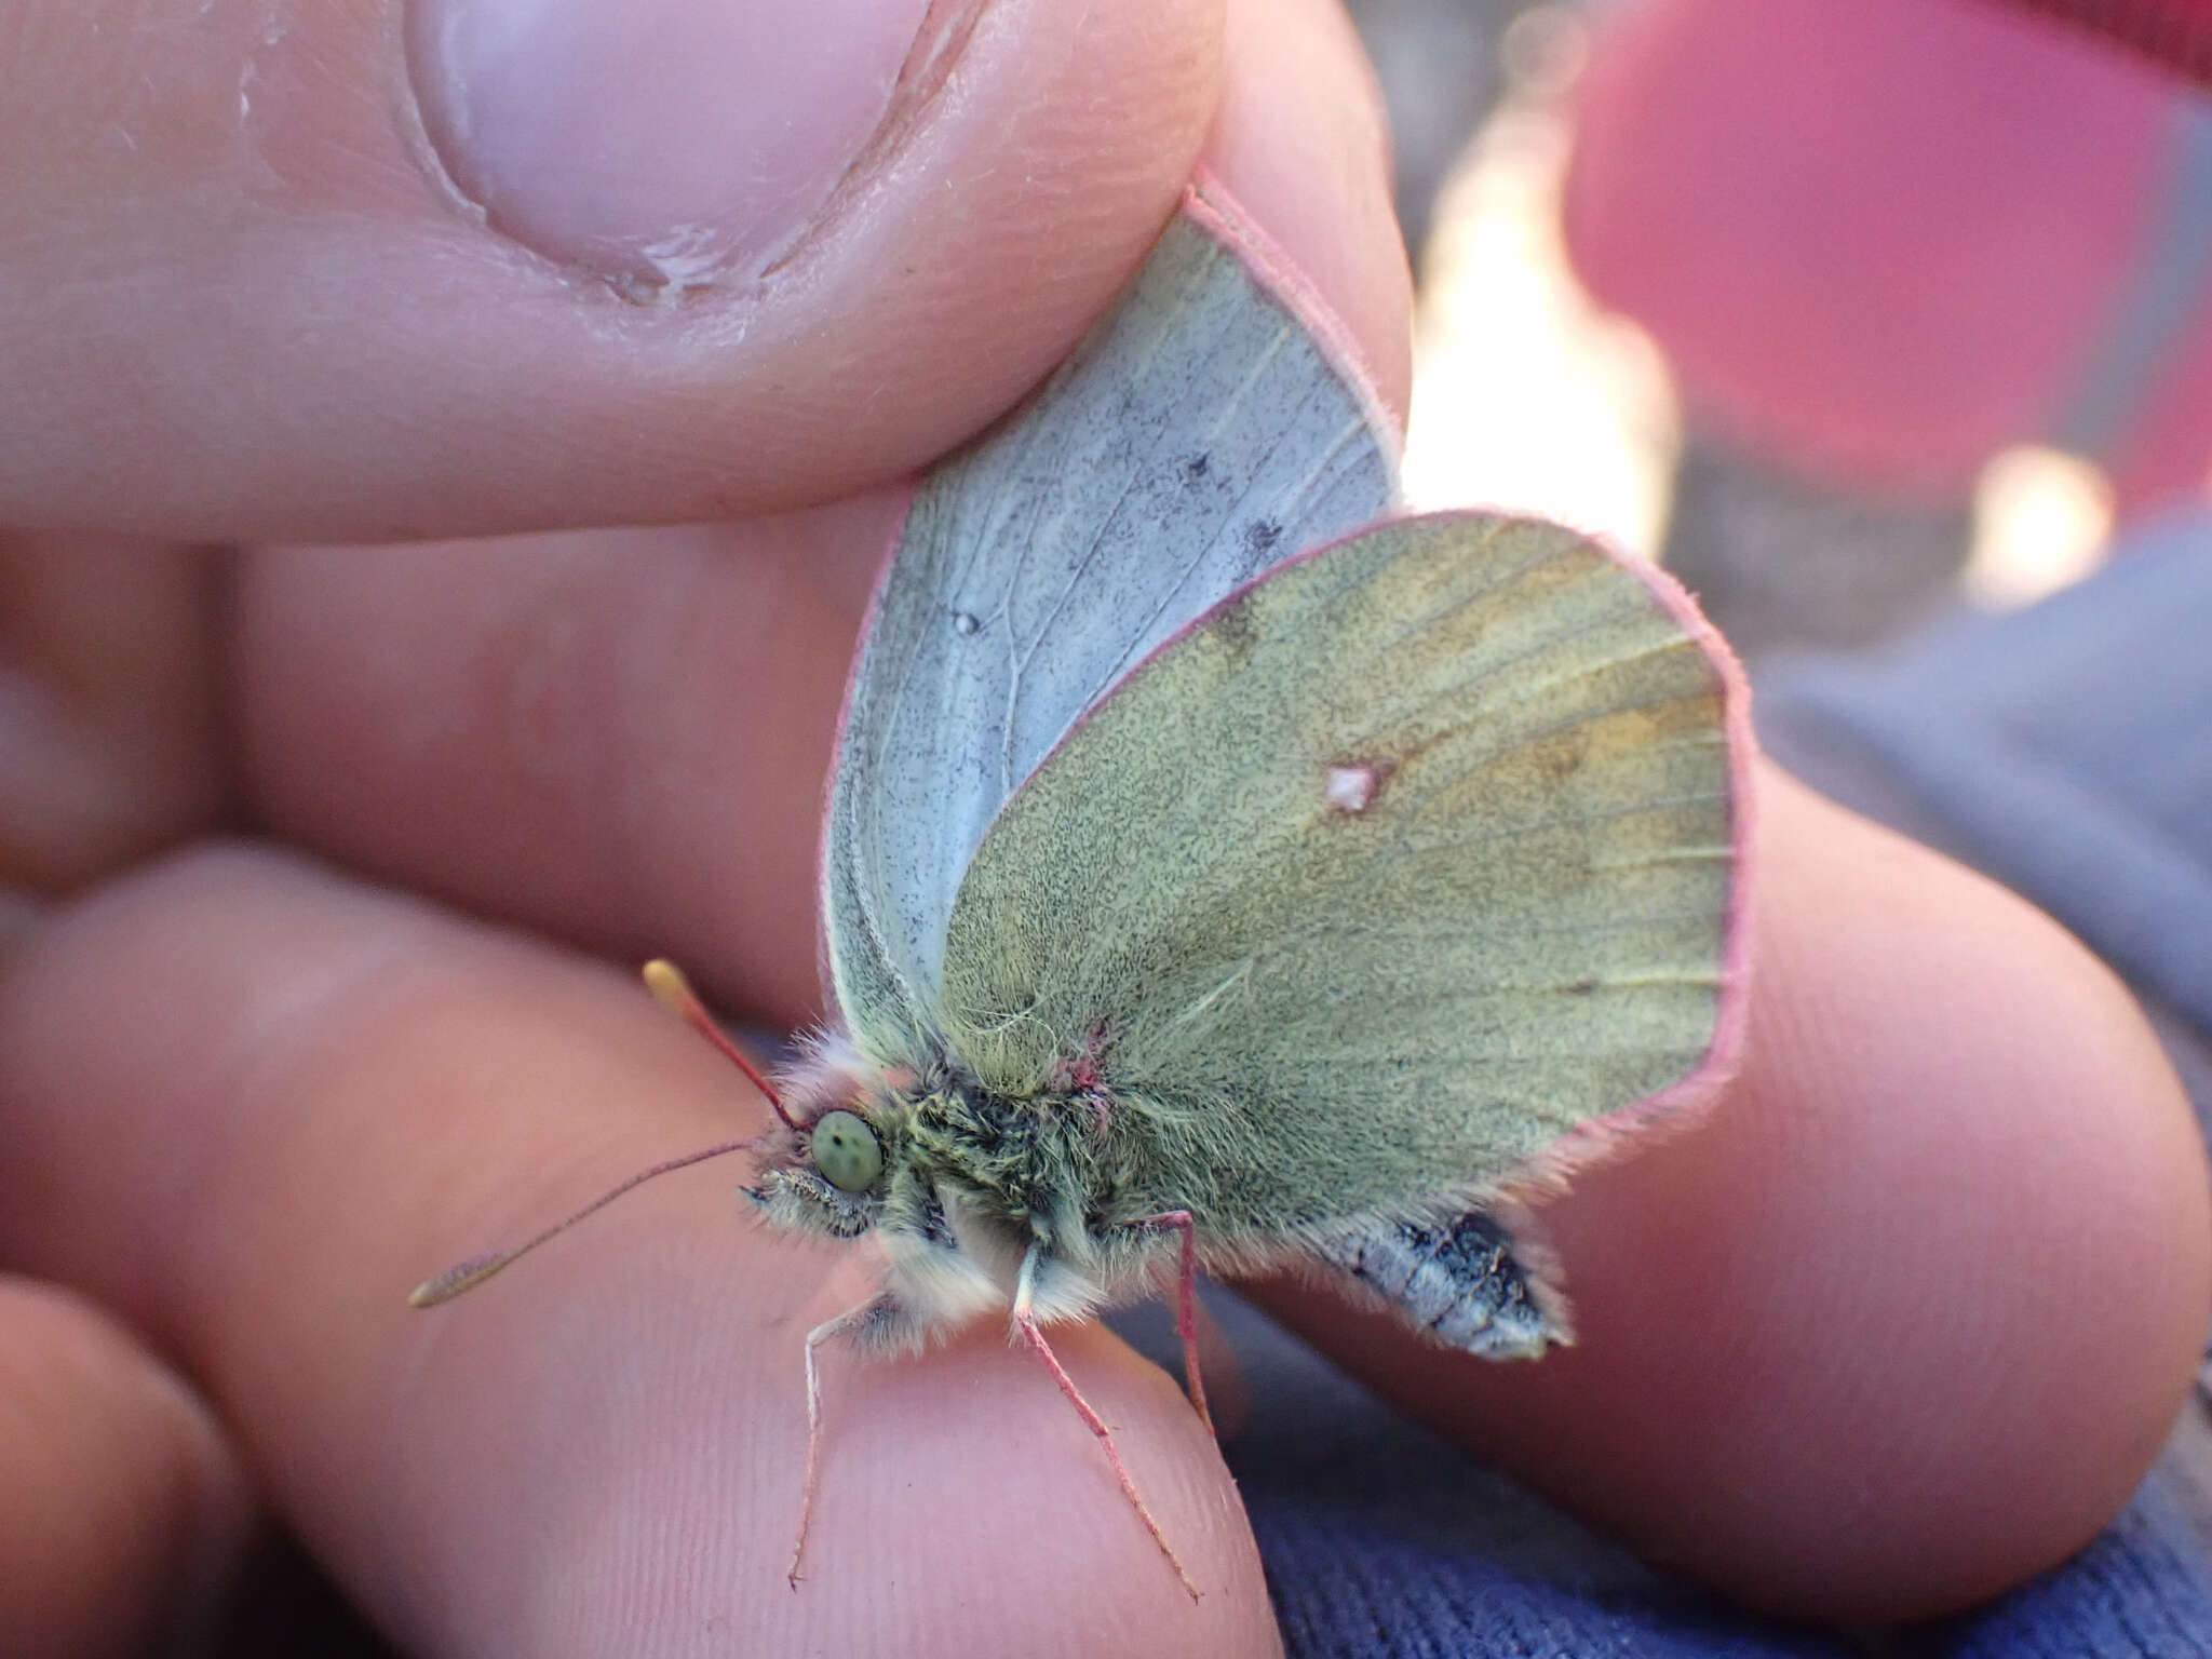
[[[1524,1199],[1734,1064],[1734,659],[1573,531],[1389,518],[1394,440],[1323,319],[1201,181],[1075,356],[920,482],[830,781],[838,1020],[757,1077],[765,1137],[599,1201],[743,1146],[768,1223],[874,1243],[876,1294],[805,1340],[794,1584],[821,1352],[1004,1316],[1197,1595],[1046,1327],[1172,1285],[1201,1416],[1201,1270],[1316,1267],[1537,1356],[1571,1323]]]

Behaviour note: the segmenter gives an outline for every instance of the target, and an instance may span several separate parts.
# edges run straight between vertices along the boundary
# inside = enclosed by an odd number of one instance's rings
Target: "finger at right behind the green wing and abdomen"
[[[1540,1212],[1577,1347],[1489,1367],[1267,1301],[1652,1559],[1798,1617],[1927,1615],[2070,1555],[2157,1455],[2212,1303],[2205,1159],[2055,922],[1763,783],[1743,1073]]]

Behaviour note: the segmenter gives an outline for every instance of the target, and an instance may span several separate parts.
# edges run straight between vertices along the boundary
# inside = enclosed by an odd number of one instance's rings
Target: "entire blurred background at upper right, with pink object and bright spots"
[[[1420,279],[1413,507],[1659,557],[1756,666],[2033,602],[2203,500],[2212,100],[2068,7],[1349,11]]]

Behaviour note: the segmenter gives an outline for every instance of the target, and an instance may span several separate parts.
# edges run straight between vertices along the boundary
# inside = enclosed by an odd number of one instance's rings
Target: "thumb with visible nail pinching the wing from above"
[[[0,522],[380,540],[902,473],[1175,204],[1217,0],[35,0]]]

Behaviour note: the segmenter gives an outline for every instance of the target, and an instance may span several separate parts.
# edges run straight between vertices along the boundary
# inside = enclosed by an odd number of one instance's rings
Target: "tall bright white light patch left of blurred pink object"
[[[1672,387],[1650,338],[1577,288],[1559,232],[1584,24],[1544,7],[1515,29],[1515,93],[1444,186],[1422,257],[1407,504],[1540,513],[1650,557],[1681,447]]]

